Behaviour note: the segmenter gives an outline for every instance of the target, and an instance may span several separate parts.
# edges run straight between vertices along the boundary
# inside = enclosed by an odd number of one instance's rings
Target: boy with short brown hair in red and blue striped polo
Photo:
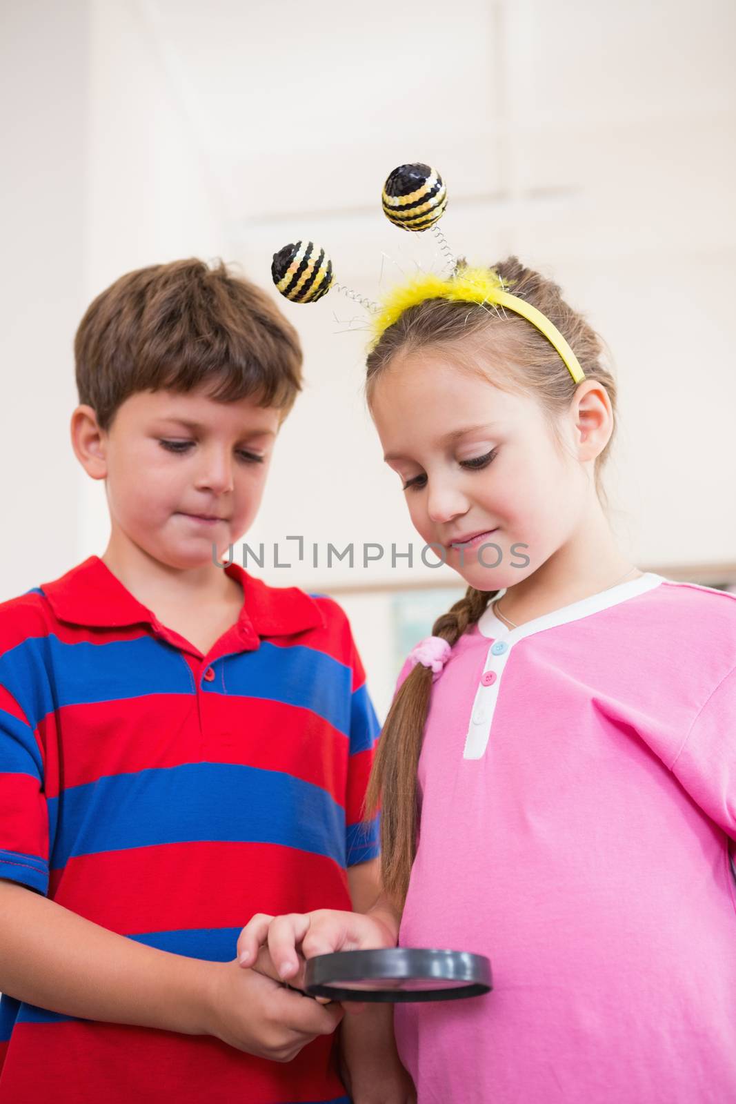
[[[213,562],[257,512],[298,339],[182,261],[98,296],[75,353],[73,447],[111,530],[0,605],[0,1104],[348,1102],[341,1007],[234,957],[256,912],[376,895],[346,618]]]

